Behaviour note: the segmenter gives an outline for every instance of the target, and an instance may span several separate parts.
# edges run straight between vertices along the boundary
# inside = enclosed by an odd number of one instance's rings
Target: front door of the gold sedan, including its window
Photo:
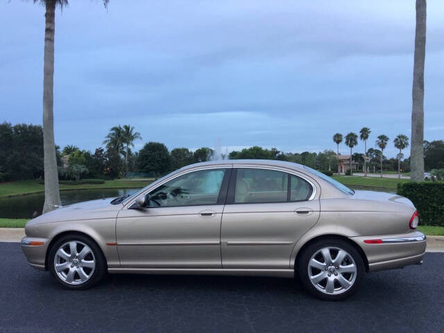
[[[230,168],[182,174],[153,189],[144,209],[117,217],[122,268],[221,268],[220,230]]]

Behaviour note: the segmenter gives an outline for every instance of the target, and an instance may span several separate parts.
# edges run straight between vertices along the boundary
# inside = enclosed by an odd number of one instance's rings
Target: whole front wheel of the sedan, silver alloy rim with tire
[[[49,269],[67,289],[87,289],[106,273],[105,257],[88,237],[72,234],[62,237],[51,247]]]

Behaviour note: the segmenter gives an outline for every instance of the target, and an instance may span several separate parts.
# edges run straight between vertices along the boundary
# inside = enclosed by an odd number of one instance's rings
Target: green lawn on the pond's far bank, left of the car
[[[138,180],[105,180],[104,184],[82,184],[82,185],[60,185],[65,189],[128,189],[142,188],[153,182],[153,178]],[[38,180],[18,180],[17,182],[3,182],[0,184],[0,198],[8,196],[19,196],[23,194],[39,193],[44,191],[44,185]]]

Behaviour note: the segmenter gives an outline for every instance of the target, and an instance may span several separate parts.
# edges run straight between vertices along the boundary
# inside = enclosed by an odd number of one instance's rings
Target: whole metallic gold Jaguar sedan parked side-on
[[[343,300],[366,272],[422,262],[417,225],[402,196],[354,191],[300,164],[228,160],[38,216],[22,249],[69,289],[105,273],[298,276],[314,296]]]

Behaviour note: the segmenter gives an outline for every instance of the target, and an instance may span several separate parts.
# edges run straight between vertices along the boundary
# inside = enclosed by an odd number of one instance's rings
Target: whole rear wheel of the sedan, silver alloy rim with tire
[[[310,244],[298,261],[298,275],[309,293],[323,300],[344,300],[359,287],[364,262],[357,250],[341,239]]]

